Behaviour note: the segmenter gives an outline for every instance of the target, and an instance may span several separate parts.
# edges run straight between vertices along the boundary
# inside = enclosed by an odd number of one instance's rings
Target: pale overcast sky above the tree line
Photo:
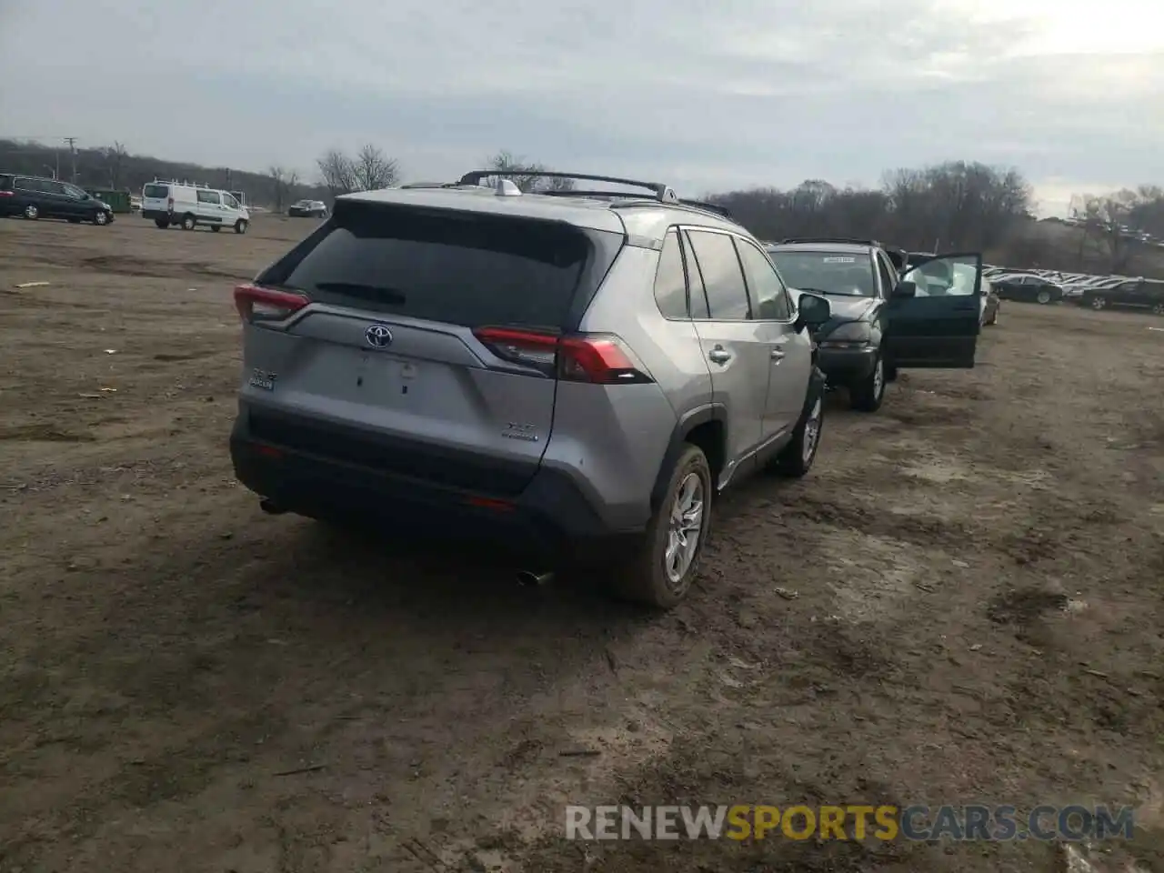
[[[0,0],[0,136],[314,177],[499,149],[681,194],[1018,166],[1046,212],[1164,183],[1149,0]]]

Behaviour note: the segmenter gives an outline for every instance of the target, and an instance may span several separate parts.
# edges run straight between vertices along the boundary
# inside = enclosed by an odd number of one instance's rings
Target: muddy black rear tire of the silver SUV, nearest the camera
[[[677,581],[672,581],[666,568],[667,546],[670,539],[672,512],[690,475],[698,478],[702,488],[698,539],[687,570]],[[672,469],[662,501],[647,524],[647,530],[634,548],[634,553],[615,568],[612,583],[615,594],[622,599],[640,603],[653,609],[672,609],[691,588],[703,555],[703,546],[711,528],[714,503],[711,468],[698,446],[686,446]]]

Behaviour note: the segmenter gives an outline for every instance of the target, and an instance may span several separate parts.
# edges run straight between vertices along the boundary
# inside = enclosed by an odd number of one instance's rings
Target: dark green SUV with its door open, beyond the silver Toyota
[[[800,237],[766,246],[793,289],[824,294],[814,334],[829,383],[875,412],[901,367],[970,368],[981,322],[982,257],[908,254],[874,240]]]

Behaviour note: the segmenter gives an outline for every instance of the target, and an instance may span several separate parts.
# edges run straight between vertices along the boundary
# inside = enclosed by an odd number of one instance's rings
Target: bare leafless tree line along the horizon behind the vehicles
[[[482,169],[523,191],[572,190],[570,179],[537,176],[547,170],[509,150],[484,158]],[[285,210],[299,198],[332,200],[346,193],[396,185],[400,162],[375,143],[356,152],[329,149],[312,178],[272,164],[267,172],[163,161],[134,155],[120,142],[69,149],[0,140],[0,171],[55,176],[86,186],[141,190],[154,178],[178,178],[242,190],[253,204]],[[952,161],[886,172],[878,187],[838,187],[807,179],[792,189],[753,187],[711,194],[762,240],[843,235],[874,237],[915,251],[984,251],[1010,267],[1159,272],[1164,265],[1164,189],[1078,194],[1065,222],[1073,233],[1051,233],[1032,215],[1031,186],[1017,170]]]

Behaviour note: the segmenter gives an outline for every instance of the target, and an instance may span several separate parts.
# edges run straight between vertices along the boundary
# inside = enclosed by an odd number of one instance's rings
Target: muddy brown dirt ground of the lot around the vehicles
[[[310,226],[0,221],[0,870],[1056,868],[563,839],[566,803],[974,801],[1137,804],[1164,870],[1164,322],[1005,304],[974,370],[830,398],[658,617],[260,512],[230,288]]]

